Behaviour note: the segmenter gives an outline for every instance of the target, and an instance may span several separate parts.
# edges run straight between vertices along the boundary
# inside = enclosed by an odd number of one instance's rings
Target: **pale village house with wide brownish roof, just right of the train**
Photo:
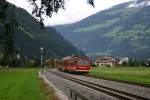
[[[110,66],[113,67],[116,64],[116,59],[112,56],[99,56],[95,61],[95,65],[98,67]]]

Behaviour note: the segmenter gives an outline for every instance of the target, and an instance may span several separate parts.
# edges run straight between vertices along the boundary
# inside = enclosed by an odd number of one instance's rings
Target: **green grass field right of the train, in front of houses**
[[[150,85],[150,68],[146,67],[93,68],[89,75]]]

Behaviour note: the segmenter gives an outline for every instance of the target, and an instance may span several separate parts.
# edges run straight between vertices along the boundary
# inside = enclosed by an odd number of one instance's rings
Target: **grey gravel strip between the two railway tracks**
[[[150,88],[131,85],[131,84],[125,84],[125,83],[119,83],[119,82],[114,82],[114,81],[109,81],[109,80],[103,80],[103,79],[98,79],[98,78],[86,77],[83,75],[64,73],[64,72],[58,71],[57,69],[53,69],[53,71],[59,72],[59,73],[64,74],[64,75],[68,75],[70,77],[74,77],[74,78],[82,79],[85,81],[93,82],[93,83],[100,84],[100,85],[103,85],[106,87],[110,87],[113,89],[117,89],[120,91],[128,92],[131,94],[139,95],[139,96],[146,97],[146,98],[150,99]]]

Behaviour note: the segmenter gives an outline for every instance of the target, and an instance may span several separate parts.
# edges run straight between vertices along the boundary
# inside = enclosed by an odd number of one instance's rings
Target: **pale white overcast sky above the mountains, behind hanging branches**
[[[26,9],[31,13],[31,7],[27,0],[7,0],[14,3],[18,7]],[[119,3],[127,2],[131,0],[95,0],[95,8],[88,5],[87,0],[66,0],[66,10],[60,10],[57,14],[54,14],[51,18],[45,18],[46,25],[59,25],[73,23],[80,21],[96,12],[104,9],[108,9]]]

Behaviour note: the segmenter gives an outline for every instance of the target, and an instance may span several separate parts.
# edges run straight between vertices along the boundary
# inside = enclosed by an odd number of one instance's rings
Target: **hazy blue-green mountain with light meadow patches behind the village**
[[[150,0],[134,0],[54,28],[88,55],[144,59],[150,57],[149,5]]]

